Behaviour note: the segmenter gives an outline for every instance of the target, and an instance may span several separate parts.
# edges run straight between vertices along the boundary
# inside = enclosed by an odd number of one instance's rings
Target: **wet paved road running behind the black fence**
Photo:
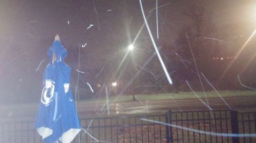
[[[246,111],[255,109],[256,96],[229,97],[224,98],[230,107],[235,110]],[[205,99],[203,99],[206,102]],[[212,109],[229,109],[221,98],[209,98],[209,105]],[[179,105],[179,106],[178,106]],[[104,106],[104,107],[103,107]],[[103,108],[102,108],[103,107]],[[80,118],[106,115],[106,105],[104,104],[78,104],[77,110]],[[102,109],[102,111],[101,111]],[[207,110],[208,108],[199,99],[166,100],[166,101],[131,101],[125,103],[110,104],[110,113],[134,114],[163,112],[167,110]],[[0,110],[0,120],[33,120],[37,111],[37,105],[29,107],[4,108]]]

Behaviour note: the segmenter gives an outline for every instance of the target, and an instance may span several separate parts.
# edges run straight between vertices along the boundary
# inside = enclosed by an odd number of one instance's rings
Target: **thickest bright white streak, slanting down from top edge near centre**
[[[153,46],[154,46],[155,51],[156,51],[156,53],[157,53],[158,59],[159,59],[159,61],[160,61],[160,63],[161,63],[161,66],[162,66],[162,68],[163,68],[163,71],[164,71],[164,73],[165,73],[165,75],[166,75],[166,77],[167,77],[167,80],[168,80],[169,84],[173,84],[173,81],[172,81],[172,79],[170,78],[169,73],[168,73],[168,71],[167,71],[167,69],[166,69],[166,67],[165,67],[165,65],[164,65],[164,63],[163,63],[162,57],[161,57],[161,55],[160,55],[160,53],[159,53],[159,51],[158,51],[158,49],[157,49],[156,43],[155,43],[154,38],[153,38],[153,36],[152,36],[152,33],[151,33],[151,31],[150,31],[150,27],[149,27],[148,24],[147,24],[147,20],[146,20],[144,11],[143,11],[143,7],[142,7],[142,2],[141,2],[141,0],[140,0],[140,7],[141,7],[141,12],[142,12],[142,15],[143,15],[143,18],[144,18],[146,27],[147,27],[148,34],[150,35],[151,41],[152,41],[152,43],[153,43]]]

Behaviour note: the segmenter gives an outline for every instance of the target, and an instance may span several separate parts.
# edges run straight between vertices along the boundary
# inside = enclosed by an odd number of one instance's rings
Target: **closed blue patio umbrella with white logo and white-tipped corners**
[[[81,130],[69,87],[71,68],[63,62],[67,53],[57,35],[48,50],[50,63],[35,120],[35,129],[45,143],[70,143]]]

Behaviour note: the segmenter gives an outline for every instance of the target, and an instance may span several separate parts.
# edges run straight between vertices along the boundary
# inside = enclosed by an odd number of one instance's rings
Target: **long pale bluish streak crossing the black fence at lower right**
[[[159,121],[154,121],[154,120],[149,120],[149,119],[143,119],[141,118],[140,120],[142,121],[148,121],[152,123],[157,123],[157,124],[162,124],[162,125],[167,125],[167,126],[172,126],[178,129],[183,129],[183,130],[188,130],[200,134],[208,134],[208,135],[215,135],[215,136],[228,136],[228,137],[256,137],[256,133],[216,133],[216,132],[208,132],[208,131],[203,131],[203,130],[197,130],[197,129],[192,129],[192,128],[187,128],[179,125],[174,125],[174,124],[168,124],[164,122],[159,122]]]

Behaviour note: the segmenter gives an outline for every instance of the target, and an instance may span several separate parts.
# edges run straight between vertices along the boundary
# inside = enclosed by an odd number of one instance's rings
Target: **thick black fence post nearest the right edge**
[[[231,118],[231,133],[232,134],[239,134],[239,127],[238,127],[238,111],[231,110],[230,111],[230,118]],[[233,143],[239,143],[239,137],[232,137]]]

